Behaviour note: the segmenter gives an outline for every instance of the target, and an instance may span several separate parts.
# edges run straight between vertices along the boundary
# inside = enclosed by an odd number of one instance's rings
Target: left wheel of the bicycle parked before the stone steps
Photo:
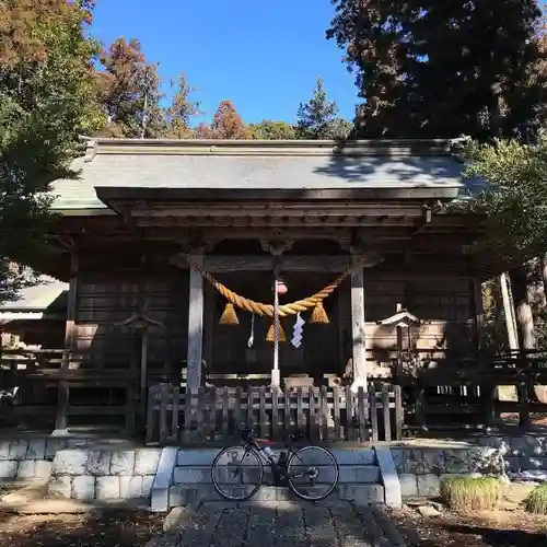
[[[248,500],[260,488],[263,478],[263,461],[255,450],[231,446],[219,452],[212,462],[212,486],[226,500]]]

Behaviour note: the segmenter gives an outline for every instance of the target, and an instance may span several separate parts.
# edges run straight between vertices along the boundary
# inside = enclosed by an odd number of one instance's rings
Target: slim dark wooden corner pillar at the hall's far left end
[[[71,353],[75,345],[75,314],[78,307],[78,254],[72,249],[70,256],[70,282],[67,301],[67,321],[65,324],[65,353],[62,357],[62,371],[69,369]],[[55,429],[67,429],[67,410],[69,404],[68,382],[61,381],[58,386],[57,417]]]

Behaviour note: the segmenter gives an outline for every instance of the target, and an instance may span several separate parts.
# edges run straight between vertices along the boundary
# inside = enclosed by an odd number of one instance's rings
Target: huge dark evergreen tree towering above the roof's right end
[[[327,38],[366,101],[363,136],[484,138],[534,115],[535,0],[331,1]]]

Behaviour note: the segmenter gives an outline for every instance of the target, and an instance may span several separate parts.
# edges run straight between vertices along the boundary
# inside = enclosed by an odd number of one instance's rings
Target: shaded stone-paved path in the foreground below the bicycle
[[[389,517],[350,503],[175,508],[148,547],[405,547]]]

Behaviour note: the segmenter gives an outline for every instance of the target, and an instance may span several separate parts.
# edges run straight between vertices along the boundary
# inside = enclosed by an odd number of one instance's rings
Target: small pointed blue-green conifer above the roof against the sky
[[[296,136],[300,139],[328,139],[338,113],[335,101],[329,101],[323,86],[323,80],[317,78],[312,98],[300,103],[296,123]]]

